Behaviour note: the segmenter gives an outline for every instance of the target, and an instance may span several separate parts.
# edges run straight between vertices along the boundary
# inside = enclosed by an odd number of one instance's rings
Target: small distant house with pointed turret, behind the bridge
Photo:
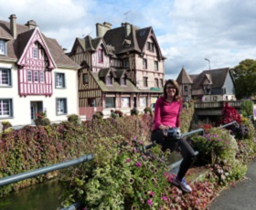
[[[176,81],[184,101],[236,100],[230,68],[204,70],[195,75],[188,75],[182,68]]]

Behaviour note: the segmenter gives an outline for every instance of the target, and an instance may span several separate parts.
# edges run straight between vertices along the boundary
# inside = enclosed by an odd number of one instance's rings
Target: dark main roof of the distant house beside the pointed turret
[[[189,76],[193,80],[192,89],[200,89],[205,78],[212,82],[212,89],[219,89],[223,87],[228,74],[229,68],[218,68],[204,70],[200,74]]]

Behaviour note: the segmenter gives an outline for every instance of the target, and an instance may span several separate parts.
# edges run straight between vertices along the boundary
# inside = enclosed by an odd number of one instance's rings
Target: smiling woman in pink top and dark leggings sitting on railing
[[[191,192],[191,187],[185,181],[185,174],[193,163],[195,152],[185,138],[177,140],[167,138],[165,131],[171,128],[179,128],[179,115],[182,108],[182,100],[179,97],[179,89],[176,80],[169,79],[165,82],[164,97],[156,100],[154,131],[151,140],[162,144],[162,150],[169,149],[171,152],[179,149],[183,157],[179,172],[173,180],[173,184],[180,186],[187,193]]]

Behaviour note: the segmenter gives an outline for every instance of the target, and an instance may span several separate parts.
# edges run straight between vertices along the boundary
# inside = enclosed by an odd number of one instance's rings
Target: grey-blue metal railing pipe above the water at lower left
[[[74,159],[71,161],[57,163],[57,164],[53,164],[53,165],[46,166],[43,168],[35,169],[35,170],[29,171],[29,172],[18,173],[15,175],[7,176],[7,177],[0,179],[0,186],[16,183],[16,182],[19,182],[19,181],[22,181],[22,180],[25,180],[28,178],[35,177],[37,175],[53,172],[53,171],[56,171],[59,169],[68,168],[69,166],[73,166],[76,164],[85,163],[85,162],[91,161],[93,158],[94,158],[93,154],[86,154],[78,159]]]

